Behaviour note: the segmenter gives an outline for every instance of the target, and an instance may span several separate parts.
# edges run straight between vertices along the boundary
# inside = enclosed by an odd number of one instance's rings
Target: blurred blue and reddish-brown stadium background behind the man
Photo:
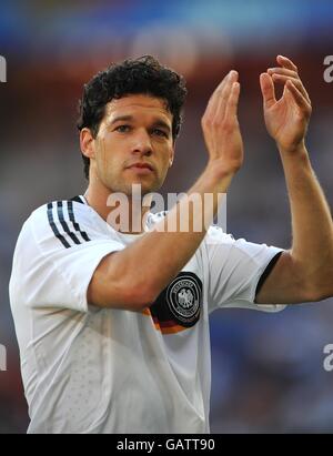
[[[291,223],[282,168],[269,139],[259,74],[278,53],[291,57],[311,94],[312,163],[333,202],[333,54],[331,1],[77,0],[1,1],[0,54],[0,433],[24,433],[27,405],[9,308],[8,281],[23,221],[40,204],[85,188],[75,131],[84,81],[111,61],[152,53],[189,84],[185,123],[164,192],[183,191],[203,169],[200,118],[231,68],[242,83],[245,164],[228,200],[234,236],[289,247]],[[213,433],[333,432],[333,300],[276,315],[220,311],[211,318]]]

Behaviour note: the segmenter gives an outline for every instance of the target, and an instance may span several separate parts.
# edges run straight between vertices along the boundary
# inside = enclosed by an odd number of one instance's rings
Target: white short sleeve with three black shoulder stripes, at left
[[[13,257],[12,305],[88,312],[87,290],[95,268],[124,247],[89,211],[80,203],[53,202],[28,219]]]

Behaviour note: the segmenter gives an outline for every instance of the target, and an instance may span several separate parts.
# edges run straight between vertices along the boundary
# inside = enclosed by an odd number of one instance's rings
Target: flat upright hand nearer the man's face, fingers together
[[[211,165],[221,175],[233,175],[243,162],[243,142],[236,116],[239,74],[231,71],[213,92],[201,124]]]

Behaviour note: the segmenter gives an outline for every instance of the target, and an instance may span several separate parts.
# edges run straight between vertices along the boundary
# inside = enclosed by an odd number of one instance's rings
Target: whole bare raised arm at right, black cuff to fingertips
[[[311,102],[293,62],[281,55],[278,62],[281,68],[261,74],[260,83],[266,126],[281,153],[293,242],[256,295],[259,304],[302,303],[333,296],[332,215],[304,145]],[[274,82],[284,84],[279,101]]]

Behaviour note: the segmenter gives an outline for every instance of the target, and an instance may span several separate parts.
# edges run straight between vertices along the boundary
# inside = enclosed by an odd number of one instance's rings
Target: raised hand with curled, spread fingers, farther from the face
[[[311,101],[297,73],[296,65],[278,55],[280,68],[270,68],[260,75],[266,129],[280,151],[294,152],[304,146],[311,115]],[[274,83],[283,83],[283,94],[275,99]]]

